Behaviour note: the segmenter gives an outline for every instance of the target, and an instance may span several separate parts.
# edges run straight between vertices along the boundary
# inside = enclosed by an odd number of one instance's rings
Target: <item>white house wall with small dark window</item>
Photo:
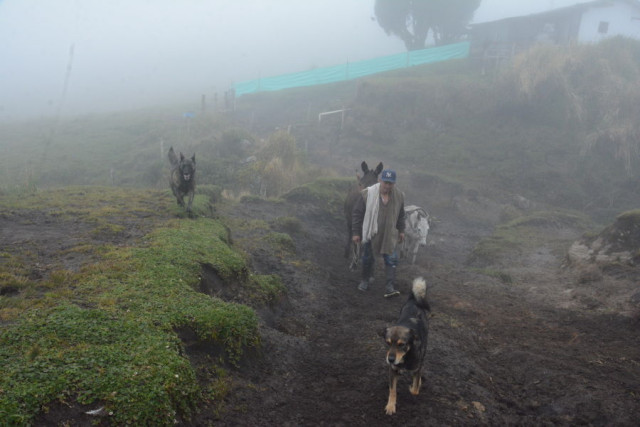
[[[606,34],[598,33],[598,26],[602,21],[609,23],[609,30]],[[640,39],[640,10],[638,8],[615,3],[611,6],[592,7],[583,13],[578,31],[578,41],[596,43],[603,38],[620,35]]]

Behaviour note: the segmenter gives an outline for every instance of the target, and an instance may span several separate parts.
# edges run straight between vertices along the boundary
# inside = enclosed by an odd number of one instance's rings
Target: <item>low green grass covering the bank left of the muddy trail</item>
[[[95,210],[75,205],[81,195],[96,202]],[[121,189],[73,188],[2,201],[8,210],[73,213],[100,229],[135,216],[145,204],[173,202],[155,196],[127,190],[128,203],[118,205]],[[224,397],[228,381],[211,378],[201,386],[196,380],[177,331],[186,328],[223,349],[217,363],[236,364],[260,345],[258,320],[246,305],[199,292],[202,266],[244,288],[254,305],[276,302],[284,287],[277,276],[251,274],[216,220],[149,221],[156,226],[139,244],[105,245],[93,253],[97,262],[77,272],[52,271],[40,282],[25,278],[31,254],[20,248],[2,253],[3,287],[20,291],[0,297],[2,424],[29,424],[53,404],[77,401],[104,407],[114,424],[171,425],[188,418],[203,399]],[[220,368],[215,375],[222,375]]]

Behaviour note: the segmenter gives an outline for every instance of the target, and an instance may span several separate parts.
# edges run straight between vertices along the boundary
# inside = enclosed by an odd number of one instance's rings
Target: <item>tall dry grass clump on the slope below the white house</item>
[[[500,90],[513,111],[570,125],[581,154],[609,153],[630,175],[640,153],[640,42],[615,37],[594,45],[534,47],[504,73]],[[525,110],[523,110],[525,109]]]

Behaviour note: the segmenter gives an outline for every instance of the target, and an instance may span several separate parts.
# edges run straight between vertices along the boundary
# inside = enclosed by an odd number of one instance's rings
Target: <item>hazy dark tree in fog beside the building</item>
[[[480,0],[376,0],[378,24],[404,41],[407,50],[424,49],[429,33],[436,45],[461,39]]]

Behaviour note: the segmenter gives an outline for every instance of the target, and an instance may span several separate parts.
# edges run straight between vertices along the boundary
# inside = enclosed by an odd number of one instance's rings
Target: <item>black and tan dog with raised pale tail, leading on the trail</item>
[[[400,318],[384,329],[381,335],[389,346],[387,363],[389,364],[389,400],[385,411],[387,415],[396,413],[396,395],[398,376],[404,372],[411,374],[409,391],[413,395],[420,392],[422,385],[422,365],[427,352],[429,333],[429,313],[427,284],[422,277],[413,280],[411,294],[402,306]]]

